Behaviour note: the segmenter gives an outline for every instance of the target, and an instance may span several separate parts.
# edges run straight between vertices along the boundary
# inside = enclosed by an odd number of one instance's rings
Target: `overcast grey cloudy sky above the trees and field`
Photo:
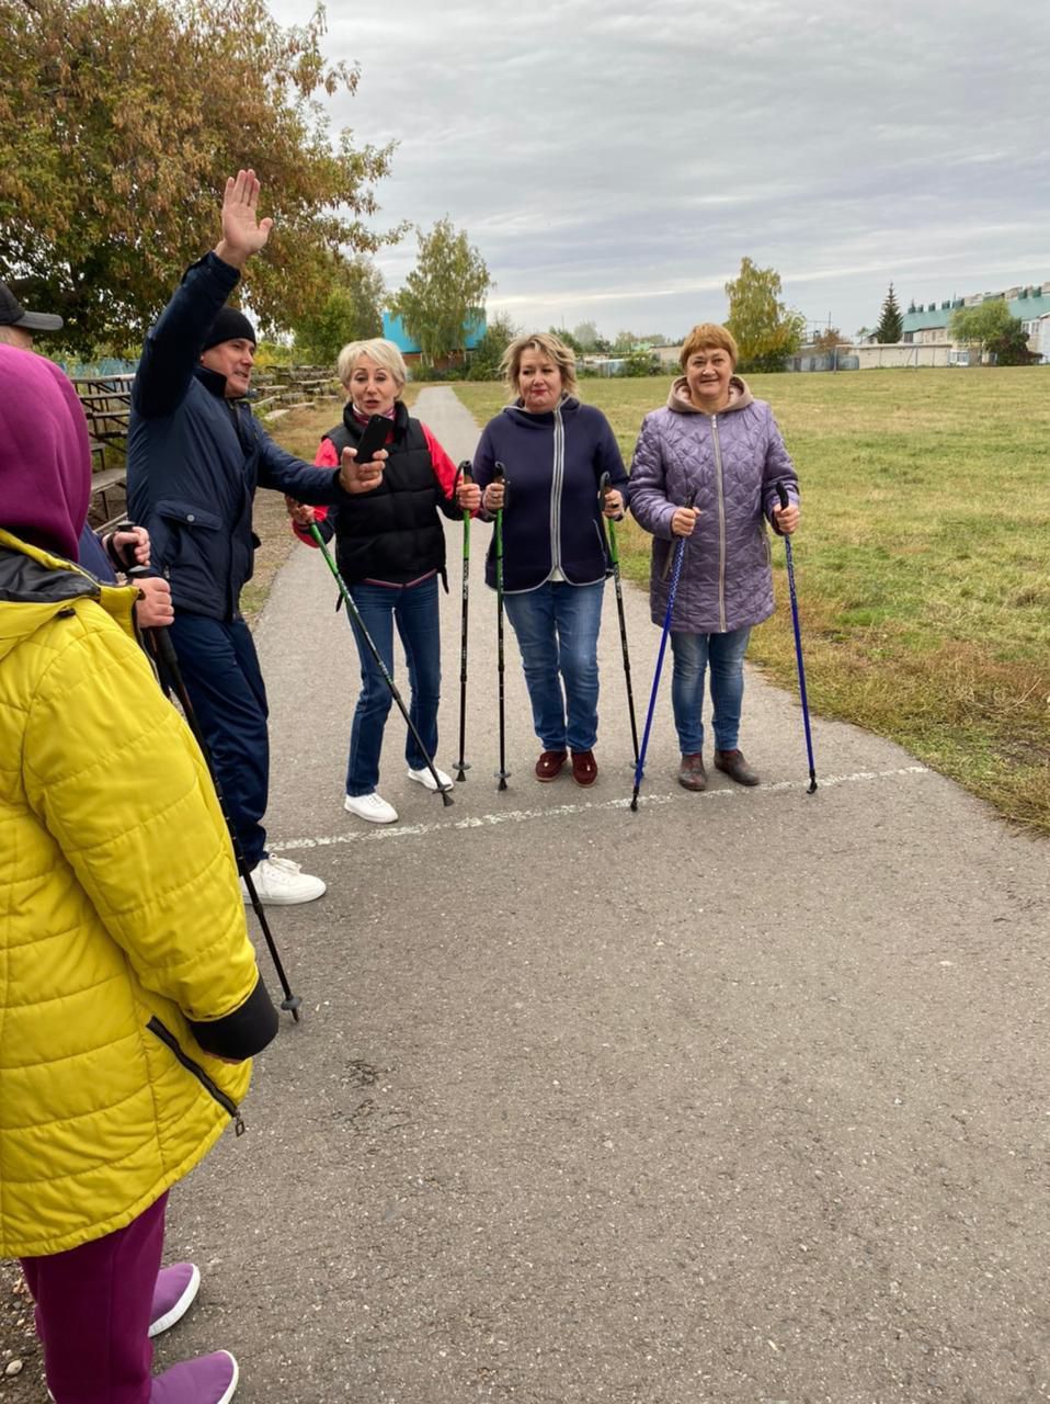
[[[522,327],[677,337],[744,256],[848,336],[890,279],[1050,279],[1046,0],[330,0],[326,52],[333,125],[400,143],[380,218],[466,229]]]

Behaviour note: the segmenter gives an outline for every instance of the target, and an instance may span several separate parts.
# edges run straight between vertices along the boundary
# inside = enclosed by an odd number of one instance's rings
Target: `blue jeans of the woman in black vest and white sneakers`
[[[404,758],[411,769],[421,771],[438,753],[441,702],[438,577],[431,576],[430,580],[406,588],[357,584],[350,587],[350,594],[390,677],[394,675],[393,626],[397,623],[411,687],[408,716],[427,748],[424,754],[408,731]],[[347,795],[371,795],[379,783],[379,753],[383,748],[383,727],[393,698],[357,625],[354,625],[354,639],[361,658],[361,694],[350,731]]]

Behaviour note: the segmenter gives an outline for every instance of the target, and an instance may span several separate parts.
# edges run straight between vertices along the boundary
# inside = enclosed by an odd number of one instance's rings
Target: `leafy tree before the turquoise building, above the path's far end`
[[[417,236],[418,260],[392,307],[434,365],[463,350],[463,327],[484,307],[493,281],[466,230],[456,230],[448,216]]]

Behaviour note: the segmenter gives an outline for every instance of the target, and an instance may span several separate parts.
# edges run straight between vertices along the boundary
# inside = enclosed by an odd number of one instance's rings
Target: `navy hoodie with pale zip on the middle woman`
[[[598,483],[627,498],[627,475],[609,421],[592,404],[567,396],[556,410],[531,414],[508,404],[486,424],[474,453],[481,491],[496,465],[507,472],[503,514],[503,581],[508,594],[536,590],[560,570],[571,585],[591,585],[609,574],[598,508]],[[496,543],[484,578],[496,587]]]

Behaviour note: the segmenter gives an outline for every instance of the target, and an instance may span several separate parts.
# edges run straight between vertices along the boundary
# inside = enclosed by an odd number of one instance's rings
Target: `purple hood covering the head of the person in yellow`
[[[0,526],[76,560],[90,497],[76,390],[52,361],[0,345]]]

